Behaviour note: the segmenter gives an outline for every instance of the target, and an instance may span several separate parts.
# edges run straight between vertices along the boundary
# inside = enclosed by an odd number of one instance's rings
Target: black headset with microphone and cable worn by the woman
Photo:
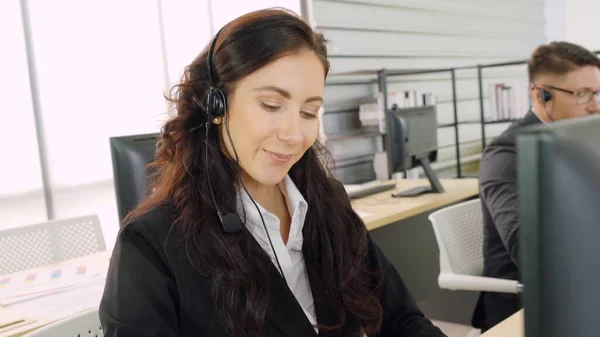
[[[212,58],[213,58],[214,47],[215,47],[215,44],[217,43],[219,34],[221,33],[222,30],[223,30],[223,28],[221,28],[217,32],[217,34],[215,34],[213,40],[210,43],[210,47],[208,48],[208,56],[206,58],[206,68],[207,68],[207,72],[208,72],[208,80],[210,82],[210,88],[208,89],[206,98],[204,100],[204,107],[206,109],[206,114],[207,114],[207,116],[206,116],[207,121],[206,121],[206,123],[203,123],[203,125],[205,126],[204,166],[205,166],[205,172],[206,172],[206,180],[208,181],[208,189],[210,190],[210,196],[212,197],[213,205],[215,206],[215,210],[217,211],[217,215],[219,216],[219,221],[221,222],[221,228],[223,229],[223,231],[225,233],[234,234],[234,233],[239,233],[242,230],[242,221],[240,220],[240,217],[237,213],[227,213],[225,215],[223,215],[221,213],[221,210],[219,209],[219,206],[217,205],[217,200],[215,198],[215,194],[212,189],[212,184],[210,182],[210,176],[208,173],[208,131],[210,130],[210,126],[215,122],[214,119],[216,119],[218,117],[224,118],[223,124],[224,124],[225,130],[227,132],[227,137],[229,138],[229,142],[231,143],[231,148],[233,149],[233,153],[235,155],[235,160],[237,162],[237,165],[238,165],[238,167],[240,167],[240,159],[237,154],[237,150],[235,149],[235,145],[233,144],[233,139],[231,138],[231,133],[229,132],[229,126],[227,123],[227,96],[225,95],[225,92],[216,85],[216,82],[213,79],[213,72],[212,72]],[[202,125],[200,125],[200,126],[202,126]],[[258,215],[260,216],[260,220],[262,222],[263,228],[265,229],[265,233],[267,234],[267,238],[269,240],[269,245],[271,246],[273,255],[275,256],[275,261],[277,262],[277,267],[279,268],[279,271],[281,272],[281,276],[285,280],[285,275],[283,274],[283,268],[281,268],[281,264],[279,263],[279,258],[277,257],[277,252],[275,252],[275,247],[273,246],[273,242],[271,241],[271,236],[269,235],[269,231],[267,229],[267,225],[265,223],[265,219],[263,218],[262,212],[260,211],[260,208],[258,207],[258,204],[256,203],[256,201],[254,201],[254,198],[252,198],[252,195],[250,195],[250,192],[248,192],[248,189],[246,188],[246,184],[244,183],[244,180],[240,179],[240,182],[242,184],[244,192],[246,192],[246,194],[252,201],[252,204],[254,204],[254,207],[256,207],[256,210],[258,211]],[[285,283],[287,284],[287,282],[285,282]]]

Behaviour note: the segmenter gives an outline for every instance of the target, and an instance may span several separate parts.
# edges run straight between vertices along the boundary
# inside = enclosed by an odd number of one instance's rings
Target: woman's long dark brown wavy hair
[[[300,51],[314,52],[327,76],[329,62],[322,34],[283,9],[248,13],[228,23],[219,34],[213,51],[213,79],[216,86],[231,95],[236,83],[245,76]],[[265,252],[252,244],[251,234],[245,228],[237,234],[223,232],[207,183],[208,176],[221,211],[236,212],[239,168],[221,149],[218,128],[210,129],[206,147],[204,130],[192,131],[195,126],[210,122],[204,107],[198,104],[204,102],[210,86],[207,53],[208,45],[186,67],[181,83],[168,97],[176,115],[160,133],[151,164],[152,192],[124,223],[163,204],[171,205],[187,249],[195,252],[188,256],[198,257],[190,262],[214,281],[214,303],[225,329],[232,336],[259,336],[268,301],[276,300],[269,298],[265,286],[267,266],[258,258]],[[208,165],[204,164],[205,148]],[[318,266],[327,300],[337,313],[335,324],[320,328],[341,328],[352,316],[360,320],[363,332],[374,335],[381,325],[382,307],[372,288],[372,273],[364,263],[366,228],[340,184],[331,178],[322,155],[328,153],[317,142],[289,172],[311,206],[304,229],[304,245],[308,248],[305,252],[309,255],[305,259]]]

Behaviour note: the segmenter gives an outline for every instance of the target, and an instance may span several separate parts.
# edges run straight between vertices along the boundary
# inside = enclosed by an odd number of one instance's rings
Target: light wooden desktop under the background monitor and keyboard
[[[428,193],[418,197],[394,198],[392,193],[416,186],[429,186],[426,179],[398,180],[395,190],[380,192],[352,201],[352,207],[362,217],[368,230],[377,229],[396,221],[441,208],[477,196],[477,179],[440,179],[444,193]],[[363,214],[368,213],[367,216]]]

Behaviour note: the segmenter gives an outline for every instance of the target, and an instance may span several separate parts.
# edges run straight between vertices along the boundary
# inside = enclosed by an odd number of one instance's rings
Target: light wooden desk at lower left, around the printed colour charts
[[[105,278],[106,270],[108,269],[109,259],[110,259],[110,252],[104,251],[104,252],[87,255],[87,256],[73,259],[73,260],[62,261],[62,262],[56,263],[54,265],[49,265],[49,266],[54,267],[54,266],[71,264],[71,263],[85,263],[88,265],[94,264],[98,268],[101,268],[101,270],[100,270],[100,272],[102,273],[101,275],[103,275]],[[27,271],[27,272],[33,272],[35,270],[36,269],[32,269],[31,271]],[[21,271],[19,273],[23,273],[23,271]],[[17,274],[17,273],[15,273],[15,274]],[[104,288],[104,285],[98,284],[95,287],[99,288],[96,291],[94,291],[94,293],[96,295],[98,295],[99,293],[101,293],[102,289]],[[82,290],[81,293],[83,293],[83,290],[85,290],[85,288],[82,288],[81,290]],[[79,291],[78,289],[74,289],[74,290],[70,290],[67,292],[63,292],[63,293],[58,293],[58,294],[54,294],[54,295],[48,295],[48,296],[31,299],[31,300],[28,300],[28,301],[25,301],[22,303],[11,304],[6,307],[0,307],[0,337],[22,336],[28,332],[31,332],[31,331],[39,329],[47,324],[50,324],[58,319],[67,317],[70,314],[72,314],[73,311],[80,311],[79,309],[81,309],[81,310],[89,309],[90,303],[88,303],[88,302],[90,302],[90,300],[91,300],[91,302],[98,302],[98,303],[92,304],[92,306],[93,305],[97,306],[100,303],[99,296],[96,299],[88,298],[87,302],[83,302],[82,304],[80,304],[79,306],[74,307],[74,308],[65,308],[64,303],[57,303],[57,301],[60,301],[61,299],[66,298],[66,296],[71,296],[71,298],[73,296],[76,296],[78,291]],[[68,295],[68,294],[71,294],[71,295]],[[14,321],[20,321],[20,322],[10,324],[10,325],[5,325],[8,322],[14,322]]]

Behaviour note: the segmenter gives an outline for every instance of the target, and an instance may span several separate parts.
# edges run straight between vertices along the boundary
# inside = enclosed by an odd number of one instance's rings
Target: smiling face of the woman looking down
[[[279,183],[313,145],[325,71],[312,52],[282,57],[240,80],[228,97],[228,125],[244,179]],[[235,159],[227,131],[222,142]]]

